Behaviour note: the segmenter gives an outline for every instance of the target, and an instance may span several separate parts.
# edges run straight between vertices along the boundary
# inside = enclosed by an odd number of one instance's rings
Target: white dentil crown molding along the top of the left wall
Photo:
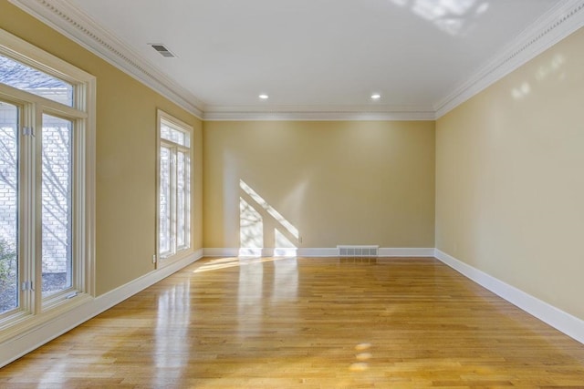
[[[198,118],[203,118],[203,103],[161,71],[148,65],[141,56],[117,37],[95,23],[88,15],[63,0],[8,0],[67,36],[114,67],[136,78],[147,87],[169,98]]]

